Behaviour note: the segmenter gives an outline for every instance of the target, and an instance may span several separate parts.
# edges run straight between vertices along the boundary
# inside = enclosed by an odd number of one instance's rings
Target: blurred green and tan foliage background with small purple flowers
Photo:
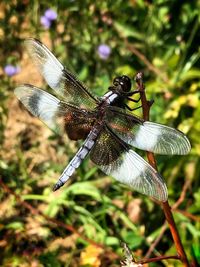
[[[24,50],[27,37],[99,96],[116,75],[130,76],[135,88],[134,76],[144,73],[155,101],[151,120],[178,128],[192,144],[187,156],[156,159],[186,253],[200,264],[199,10],[195,0],[1,1],[0,266],[120,266],[120,241],[136,259],[176,254],[160,205],[90,160],[52,192],[81,142],[56,136],[15,98],[22,83],[49,90]]]

